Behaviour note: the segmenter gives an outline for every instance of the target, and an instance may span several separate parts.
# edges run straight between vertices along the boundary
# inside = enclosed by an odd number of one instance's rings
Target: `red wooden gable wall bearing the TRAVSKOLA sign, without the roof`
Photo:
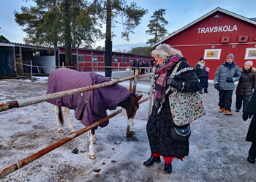
[[[218,20],[214,18],[215,15],[219,15]],[[202,28],[205,28],[204,31]],[[247,41],[238,42],[241,36],[248,37]],[[230,41],[222,43],[223,37],[229,37]],[[205,59],[206,67],[211,69],[210,79],[214,79],[214,72],[225,62],[229,53],[234,54],[234,61],[239,67],[248,61],[245,59],[246,48],[256,48],[256,26],[223,12],[215,12],[162,43],[181,50],[192,67],[204,56],[205,49],[221,49],[219,59]],[[256,65],[256,60],[252,61]]]

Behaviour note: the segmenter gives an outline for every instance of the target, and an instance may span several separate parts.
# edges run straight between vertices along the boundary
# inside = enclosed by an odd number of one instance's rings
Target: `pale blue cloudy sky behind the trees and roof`
[[[256,18],[256,1],[255,0],[127,0],[127,3],[136,2],[138,7],[148,10],[148,13],[143,16],[141,23],[134,29],[135,34],[129,35],[129,42],[121,39],[122,26],[117,24],[113,28],[116,37],[113,38],[113,50],[127,51],[131,48],[139,46],[148,46],[146,42],[152,37],[146,34],[147,25],[151,20],[151,15],[159,9],[166,9],[164,18],[169,22],[165,29],[171,34],[197,18],[206,15],[211,10],[217,7],[242,15],[246,18]],[[20,12],[21,6],[29,7],[34,4],[34,1],[26,0],[1,0],[0,6],[0,34],[4,35],[11,42],[23,43],[23,38],[26,33],[22,31],[22,27],[15,23],[14,12]],[[104,47],[105,41],[95,43],[97,46]]]

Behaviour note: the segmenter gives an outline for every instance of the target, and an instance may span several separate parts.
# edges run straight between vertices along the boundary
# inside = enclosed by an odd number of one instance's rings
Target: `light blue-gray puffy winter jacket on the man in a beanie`
[[[238,81],[241,77],[241,69],[233,61],[230,67],[225,63],[221,64],[214,76],[214,84],[218,85],[220,90],[233,91],[235,88],[235,81]],[[227,78],[232,78],[233,82],[227,82]]]

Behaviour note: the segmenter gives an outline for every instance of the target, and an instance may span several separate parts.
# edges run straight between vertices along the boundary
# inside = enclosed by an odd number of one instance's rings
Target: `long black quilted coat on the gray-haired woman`
[[[175,66],[167,73],[167,77],[171,75]],[[176,72],[175,80],[178,81],[178,90],[184,88],[183,91],[195,92],[199,91],[200,83],[197,80],[193,68],[187,62],[182,62]],[[184,85],[182,84],[184,83]],[[166,86],[167,89],[168,86]],[[178,143],[170,136],[170,130],[173,128],[173,118],[170,113],[170,104],[167,94],[162,110],[157,114],[159,106],[154,105],[152,112],[148,118],[146,126],[151,153],[160,152],[162,156],[187,156],[189,154],[189,140]]]

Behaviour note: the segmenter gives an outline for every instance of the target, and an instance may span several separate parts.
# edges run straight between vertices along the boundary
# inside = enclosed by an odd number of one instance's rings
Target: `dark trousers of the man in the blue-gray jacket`
[[[225,110],[230,110],[232,104],[233,90],[219,90],[219,107],[224,107]]]

